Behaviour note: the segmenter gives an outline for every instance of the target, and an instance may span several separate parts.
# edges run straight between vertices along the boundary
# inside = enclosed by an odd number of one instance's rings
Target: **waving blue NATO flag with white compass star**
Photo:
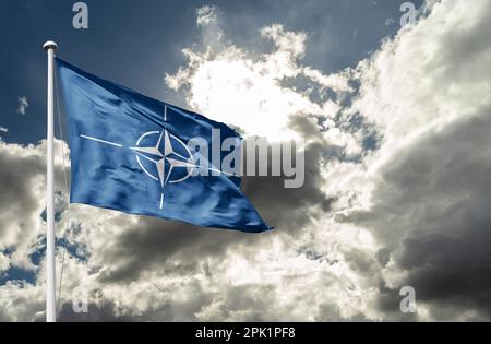
[[[228,154],[232,146],[240,154],[235,130],[60,59],[57,67],[70,129],[71,203],[204,227],[271,229],[240,190],[240,177],[219,165],[227,152],[209,158],[202,149],[228,142]],[[191,140],[203,152],[193,152]]]

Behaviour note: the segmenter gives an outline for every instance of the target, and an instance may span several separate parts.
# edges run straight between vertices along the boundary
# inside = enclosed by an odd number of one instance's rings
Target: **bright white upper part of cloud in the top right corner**
[[[386,146],[406,144],[486,102],[490,83],[483,75],[491,74],[491,46],[482,33],[489,32],[482,25],[489,15],[479,10],[486,7],[486,0],[472,8],[458,1],[438,3],[417,27],[403,28],[360,63],[360,97],[354,109],[376,123]]]

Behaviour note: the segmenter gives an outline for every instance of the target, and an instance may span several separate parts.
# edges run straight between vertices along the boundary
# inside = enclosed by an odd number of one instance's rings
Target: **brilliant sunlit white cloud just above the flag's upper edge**
[[[221,28],[215,27],[213,35],[220,37]],[[261,35],[273,43],[274,49],[260,57],[221,40],[206,44],[202,50],[184,49],[189,63],[176,74],[167,74],[167,85],[175,91],[187,90],[188,103],[197,111],[238,126],[247,134],[272,140],[292,135],[288,123],[295,115],[334,117],[338,105],[333,99],[312,102],[310,91],[299,91],[285,83],[307,78],[311,87],[325,96],[327,88],[351,91],[347,72],[325,75],[300,64],[306,49],[304,33],[289,32],[274,24],[264,27]]]

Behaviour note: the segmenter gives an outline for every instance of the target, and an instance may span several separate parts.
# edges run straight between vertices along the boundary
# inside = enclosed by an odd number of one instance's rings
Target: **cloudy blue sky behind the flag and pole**
[[[412,1],[406,25],[394,0],[85,1],[86,29],[74,2],[0,1],[0,320],[44,319],[48,39],[246,137],[306,142],[302,188],[243,178],[275,227],[248,235],[68,204],[57,128],[59,320],[490,320],[491,1]]]

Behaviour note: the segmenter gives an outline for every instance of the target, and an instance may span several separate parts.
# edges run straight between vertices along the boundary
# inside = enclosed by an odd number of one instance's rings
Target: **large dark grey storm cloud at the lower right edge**
[[[351,217],[384,244],[379,261],[407,271],[404,285],[446,317],[491,316],[490,132],[487,107],[404,149],[381,171],[371,210]],[[381,306],[399,299],[393,292],[381,288]]]

